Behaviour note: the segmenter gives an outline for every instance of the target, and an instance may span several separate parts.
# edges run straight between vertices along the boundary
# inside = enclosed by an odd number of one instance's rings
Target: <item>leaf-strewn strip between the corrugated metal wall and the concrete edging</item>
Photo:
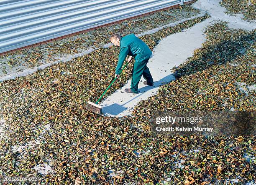
[[[141,33],[161,25],[190,18],[199,12],[190,5],[184,5],[182,8],[175,7],[170,10],[163,10],[141,18],[126,20],[105,28],[0,56],[0,76],[6,75],[7,72],[53,62],[60,57],[88,50],[91,47],[102,47],[109,43],[109,37],[113,33],[120,32],[123,35]]]

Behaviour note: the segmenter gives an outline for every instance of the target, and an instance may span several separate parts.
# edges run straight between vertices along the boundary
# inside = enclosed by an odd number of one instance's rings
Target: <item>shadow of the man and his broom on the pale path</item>
[[[132,100],[134,99],[137,99],[138,97],[140,97],[141,95],[143,95],[144,92],[147,92],[148,90],[151,90],[151,89],[154,89],[154,88],[157,88],[161,85],[164,85],[166,83],[169,83],[173,80],[175,80],[175,76],[173,74],[171,75],[168,75],[158,81],[154,81],[154,85],[153,86],[145,86],[145,87],[142,87],[140,89],[138,89],[138,94],[137,95],[134,95],[134,97],[123,103],[122,105],[118,104],[118,103],[114,103],[112,105],[108,105],[108,106],[104,106],[104,105],[101,105],[102,106],[102,113],[105,114],[105,115],[118,115],[120,114],[121,112],[125,111],[125,110],[128,110],[128,108],[124,107],[125,104],[127,104],[128,102],[131,102]]]

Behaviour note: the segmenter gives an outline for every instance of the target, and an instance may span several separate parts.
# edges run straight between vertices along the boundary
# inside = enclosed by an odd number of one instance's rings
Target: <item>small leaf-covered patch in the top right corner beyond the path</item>
[[[222,0],[223,5],[229,14],[242,13],[244,20],[256,20],[255,0]]]

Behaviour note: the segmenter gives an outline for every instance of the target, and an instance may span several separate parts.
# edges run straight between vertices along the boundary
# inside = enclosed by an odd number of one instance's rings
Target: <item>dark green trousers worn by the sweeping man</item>
[[[143,76],[143,78],[147,80],[148,83],[153,83],[153,78],[147,67],[148,60],[149,58],[143,61],[136,60],[134,62],[132,70],[131,90],[135,93],[138,93],[138,83],[141,80],[141,76]]]

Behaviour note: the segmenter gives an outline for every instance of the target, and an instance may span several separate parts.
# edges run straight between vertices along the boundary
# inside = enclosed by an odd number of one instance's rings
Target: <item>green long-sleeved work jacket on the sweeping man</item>
[[[134,34],[126,35],[120,39],[120,53],[118,63],[115,68],[115,74],[119,75],[123,62],[127,55],[135,57],[135,60],[142,61],[151,56],[152,52],[148,45]]]

